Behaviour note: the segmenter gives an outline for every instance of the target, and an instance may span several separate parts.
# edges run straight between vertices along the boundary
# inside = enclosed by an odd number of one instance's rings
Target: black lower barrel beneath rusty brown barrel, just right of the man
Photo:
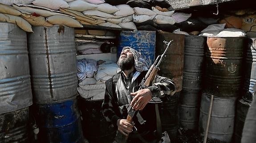
[[[180,92],[169,97],[169,100],[163,100],[159,105],[159,115],[163,131],[167,131],[171,138],[178,135],[179,129],[179,96]]]

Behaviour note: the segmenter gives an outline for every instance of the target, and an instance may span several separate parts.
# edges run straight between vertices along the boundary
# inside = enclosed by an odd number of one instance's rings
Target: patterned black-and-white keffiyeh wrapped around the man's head
[[[148,70],[146,67],[146,61],[144,58],[142,58],[142,55],[140,52],[138,52],[137,50],[134,50],[133,48],[130,48],[129,46],[123,47],[122,52],[126,49],[131,50],[131,53],[133,54],[134,61],[135,61],[134,67],[137,71],[142,72],[142,71]],[[117,73],[120,73],[121,71],[122,70],[118,68]]]

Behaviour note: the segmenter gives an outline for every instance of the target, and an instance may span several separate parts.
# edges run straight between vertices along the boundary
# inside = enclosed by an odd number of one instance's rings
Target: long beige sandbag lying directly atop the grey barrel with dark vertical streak
[[[77,20],[65,15],[53,15],[46,18],[52,24],[63,24],[68,27],[83,27]]]

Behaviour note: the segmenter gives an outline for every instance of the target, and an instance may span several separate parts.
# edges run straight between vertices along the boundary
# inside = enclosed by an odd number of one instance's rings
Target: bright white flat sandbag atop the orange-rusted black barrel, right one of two
[[[218,35],[215,37],[245,37],[246,34],[243,30],[241,29],[236,29],[236,28],[227,28],[224,29],[223,31],[220,31]]]

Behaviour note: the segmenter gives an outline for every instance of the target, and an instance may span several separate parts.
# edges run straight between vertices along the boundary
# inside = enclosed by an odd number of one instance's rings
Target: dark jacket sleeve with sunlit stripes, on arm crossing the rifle
[[[166,77],[156,76],[156,82],[147,87],[152,93],[152,97],[163,97],[164,95],[173,95],[176,91],[174,82]]]

